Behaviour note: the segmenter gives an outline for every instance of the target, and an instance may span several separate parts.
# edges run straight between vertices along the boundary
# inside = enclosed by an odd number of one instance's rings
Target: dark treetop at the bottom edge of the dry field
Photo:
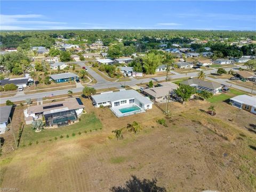
[[[132,178],[126,181],[125,186],[118,186],[110,188],[110,191],[113,192],[165,192],[164,187],[159,187],[156,185],[156,179],[138,179],[135,175],[132,175]]]

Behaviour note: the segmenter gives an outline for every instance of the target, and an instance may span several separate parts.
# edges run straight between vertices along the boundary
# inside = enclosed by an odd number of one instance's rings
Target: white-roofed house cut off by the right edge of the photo
[[[239,109],[244,109],[253,114],[256,114],[256,97],[249,95],[237,95],[234,98],[230,98],[232,106],[235,106]]]

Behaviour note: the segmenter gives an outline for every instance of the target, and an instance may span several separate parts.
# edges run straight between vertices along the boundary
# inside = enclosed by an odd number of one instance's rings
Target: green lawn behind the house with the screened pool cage
[[[41,132],[36,133],[31,129],[31,125],[25,126],[22,136],[20,146],[28,145],[29,142],[33,144],[38,142],[49,141],[50,139],[54,140],[54,137],[60,139],[60,135],[63,135],[63,139],[66,138],[68,134],[69,137],[72,137],[72,133],[76,135],[78,132],[85,134],[84,131],[87,131],[86,134],[90,133],[90,130],[102,129],[102,124],[100,120],[95,116],[94,113],[84,114],[81,116],[81,121],[73,125],[63,126],[55,129],[43,129]]]

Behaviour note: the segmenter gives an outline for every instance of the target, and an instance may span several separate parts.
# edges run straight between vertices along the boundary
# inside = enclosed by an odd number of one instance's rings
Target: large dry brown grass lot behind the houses
[[[256,138],[246,130],[256,124],[255,115],[221,102],[212,117],[199,110],[210,103],[191,101],[172,102],[169,117],[154,106],[147,113],[116,118],[108,108],[95,109],[89,100],[83,102],[87,113],[94,111],[100,119],[102,131],[5,155],[2,187],[109,191],[136,175],[156,178],[167,191],[256,191]],[[159,118],[166,126],[156,122]],[[112,130],[133,121],[143,126],[138,135],[125,131],[123,140],[107,139]]]

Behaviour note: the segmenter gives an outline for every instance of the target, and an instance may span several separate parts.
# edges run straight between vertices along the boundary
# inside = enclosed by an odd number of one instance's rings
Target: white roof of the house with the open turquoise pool
[[[118,92],[112,92],[112,93],[98,94],[98,95],[93,95],[92,98],[97,103],[106,102],[106,101],[113,102],[121,99],[138,99],[140,102],[144,103],[144,105],[153,103],[147,97],[144,97],[143,95],[141,95],[135,90],[125,90],[125,91],[118,91]]]

